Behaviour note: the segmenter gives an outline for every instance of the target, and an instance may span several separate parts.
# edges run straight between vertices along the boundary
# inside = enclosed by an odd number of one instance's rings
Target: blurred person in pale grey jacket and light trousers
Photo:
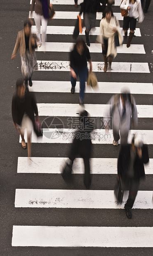
[[[104,116],[106,121],[107,118],[112,121],[113,145],[118,146],[119,139],[120,144],[127,144],[131,125],[135,128],[138,122],[135,99],[128,88],[122,88],[121,93],[113,95],[107,104],[109,107]],[[108,129],[107,124],[106,129]]]

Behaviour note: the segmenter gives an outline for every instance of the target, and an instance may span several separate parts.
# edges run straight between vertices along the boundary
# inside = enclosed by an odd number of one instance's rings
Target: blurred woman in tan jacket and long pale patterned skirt
[[[35,48],[37,47],[37,36],[31,33],[30,21],[24,22],[24,29],[18,32],[16,44],[11,59],[15,59],[18,50],[21,58],[21,72],[25,85],[32,86],[31,77],[33,71],[38,69]]]

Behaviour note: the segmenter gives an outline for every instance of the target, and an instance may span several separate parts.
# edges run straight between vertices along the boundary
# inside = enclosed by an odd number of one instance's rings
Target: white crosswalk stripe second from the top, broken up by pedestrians
[[[118,18],[118,20],[123,20],[123,17],[120,12],[113,12],[114,16]],[[55,12],[54,19],[77,19],[78,12]],[[33,19],[34,12],[31,14],[31,11],[29,12],[29,18]],[[81,15],[81,19],[83,19],[83,14]],[[97,20],[102,19],[102,13],[97,12]]]

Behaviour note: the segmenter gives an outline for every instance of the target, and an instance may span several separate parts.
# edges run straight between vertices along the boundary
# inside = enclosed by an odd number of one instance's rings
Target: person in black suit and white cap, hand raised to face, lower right
[[[129,186],[129,197],[124,206],[127,218],[132,217],[132,209],[139,189],[140,178],[145,177],[144,164],[149,161],[148,147],[142,137],[135,135],[131,145],[122,145],[118,156],[118,180],[123,190]]]

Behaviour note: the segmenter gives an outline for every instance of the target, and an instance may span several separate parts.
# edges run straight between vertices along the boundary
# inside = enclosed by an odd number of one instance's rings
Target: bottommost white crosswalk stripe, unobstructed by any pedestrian
[[[144,237],[146,239],[144,239]],[[12,246],[153,247],[152,237],[153,227],[56,227],[14,225]]]

